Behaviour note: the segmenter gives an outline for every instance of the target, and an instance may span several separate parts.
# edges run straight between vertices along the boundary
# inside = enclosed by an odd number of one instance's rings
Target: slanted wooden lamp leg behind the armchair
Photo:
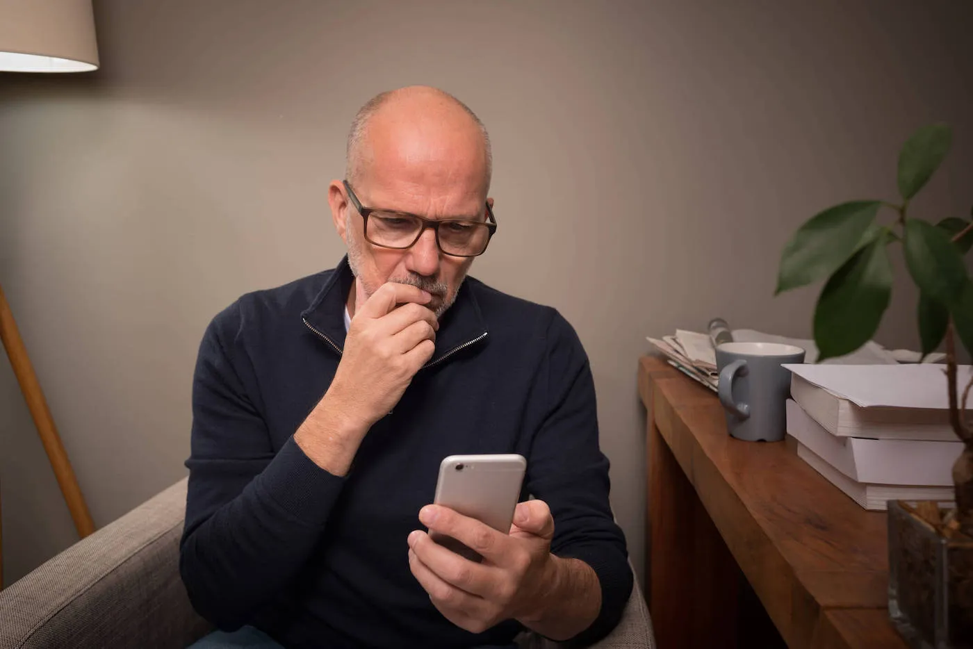
[[[54,477],[60,486],[61,493],[64,494],[64,501],[74,519],[74,526],[78,529],[78,534],[84,538],[94,531],[94,522],[85,504],[85,497],[81,494],[78,487],[78,480],[74,476],[71,462],[67,458],[64,446],[61,444],[57,428],[54,426],[54,417],[48,409],[48,402],[41,391],[41,384],[37,381],[34,374],[34,367],[27,357],[27,350],[20,340],[20,333],[17,323],[14,321],[14,313],[7,304],[4,297],[3,287],[0,286],[0,341],[7,349],[11,365],[14,366],[14,374],[17,376],[23,398],[27,402],[27,408],[34,419],[37,427],[37,434],[44,444],[44,450],[48,453],[51,460],[51,467],[54,469]]]

